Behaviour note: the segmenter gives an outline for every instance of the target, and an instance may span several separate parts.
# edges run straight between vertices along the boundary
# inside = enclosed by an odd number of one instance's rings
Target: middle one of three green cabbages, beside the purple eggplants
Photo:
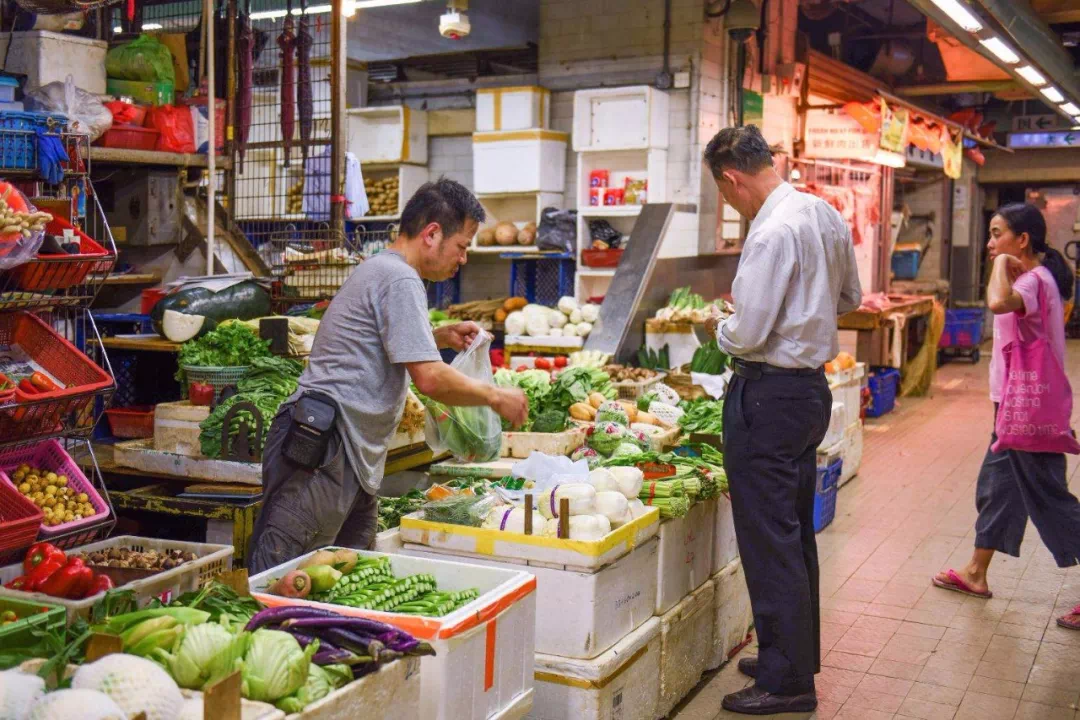
[[[301,649],[288,633],[255,630],[241,671],[241,694],[264,703],[292,695],[307,682],[318,650],[318,642]]]

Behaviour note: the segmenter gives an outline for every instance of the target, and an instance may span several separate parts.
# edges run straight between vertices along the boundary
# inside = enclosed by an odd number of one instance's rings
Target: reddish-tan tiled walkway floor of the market
[[[993,600],[930,585],[971,557],[975,477],[991,427],[987,355],[977,366],[946,365],[932,397],[904,399],[867,424],[859,477],[818,535],[818,712],[774,717],[1080,720],[1080,631],[1053,622],[1080,603],[1080,568],[1059,570],[1029,524],[1023,556],[999,554],[990,566]],[[1080,342],[1069,342],[1067,365],[1080,391]],[[1075,406],[1080,426],[1080,398]],[[720,709],[726,693],[748,683],[734,665],[706,678],[672,717],[745,717]]]

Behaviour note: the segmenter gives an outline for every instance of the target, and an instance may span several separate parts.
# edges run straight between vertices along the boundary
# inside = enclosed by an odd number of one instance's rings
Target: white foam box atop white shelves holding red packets
[[[667,94],[648,85],[579,90],[573,94],[573,149],[666,149]]]

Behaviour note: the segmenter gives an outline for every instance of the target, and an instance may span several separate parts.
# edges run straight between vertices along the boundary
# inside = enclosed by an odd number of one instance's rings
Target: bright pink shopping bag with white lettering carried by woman
[[[1047,283],[1039,279],[1039,310],[1043,336],[1030,335],[1020,324],[1020,341],[1002,350],[1005,388],[995,423],[998,441],[991,448],[1025,452],[1068,452],[1080,454],[1080,443],[1069,426],[1072,417],[1072,388],[1065,368],[1050,347]]]

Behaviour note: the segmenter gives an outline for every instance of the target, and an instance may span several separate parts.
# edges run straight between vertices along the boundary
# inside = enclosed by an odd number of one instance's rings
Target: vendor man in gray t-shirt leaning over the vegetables
[[[480,327],[459,323],[432,332],[428,321],[421,279],[453,277],[483,221],[484,208],[461,185],[424,185],[402,213],[396,242],[362,263],[326,309],[299,390],[267,435],[265,501],[252,535],[251,572],[325,545],[372,544],[376,493],[409,378],[446,405],[486,405],[515,425],[525,422],[524,393],[476,382],[442,362],[441,348],[468,348]],[[336,432],[313,470],[284,453],[293,406],[305,393],[321,393],[338,407]]]

